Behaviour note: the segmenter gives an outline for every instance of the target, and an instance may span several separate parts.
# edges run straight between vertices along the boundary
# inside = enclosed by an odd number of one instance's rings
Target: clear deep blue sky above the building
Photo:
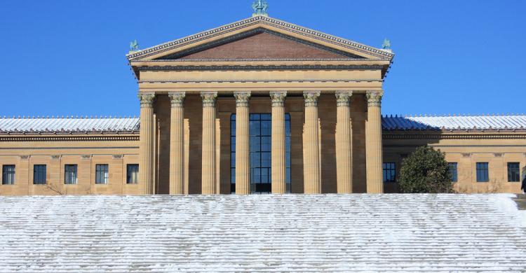
[[[252,0],[1,1],[0,116],[139,113],[126,52],[248,18]],[[526,1],[269,0],[274,18],[396,53],[383,113],[526,112]]]

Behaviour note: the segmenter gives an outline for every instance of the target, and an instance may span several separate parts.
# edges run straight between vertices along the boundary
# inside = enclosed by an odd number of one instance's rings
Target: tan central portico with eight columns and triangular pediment
[[[382,193],[392,57],[259,15],[131,52],[144,194]],[[252,114],[271,116],[270,162],[253,158]]]

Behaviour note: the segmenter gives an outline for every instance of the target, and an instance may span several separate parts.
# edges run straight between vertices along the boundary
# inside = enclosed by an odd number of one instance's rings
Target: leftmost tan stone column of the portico
[[[143,195],[154,193],[154,93],[140,93],[139,183]]]

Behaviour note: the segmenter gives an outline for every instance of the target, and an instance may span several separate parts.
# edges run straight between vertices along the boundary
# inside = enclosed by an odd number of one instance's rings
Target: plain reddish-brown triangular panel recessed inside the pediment
[[[245,31],[157,59],[365,59],[264,28]]]

